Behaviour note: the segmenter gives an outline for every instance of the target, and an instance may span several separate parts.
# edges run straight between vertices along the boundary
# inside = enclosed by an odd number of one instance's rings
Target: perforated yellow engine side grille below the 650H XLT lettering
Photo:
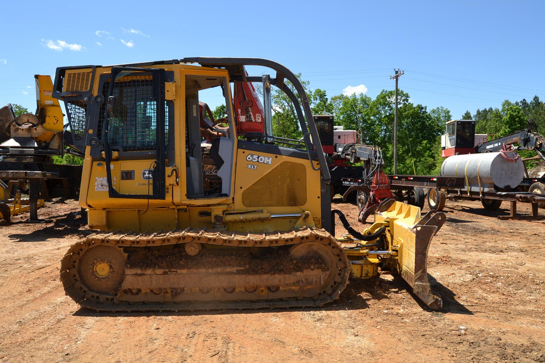
[[[284,161],[242,193],[245,207],[302,206],[307,201],[306,169]]]

